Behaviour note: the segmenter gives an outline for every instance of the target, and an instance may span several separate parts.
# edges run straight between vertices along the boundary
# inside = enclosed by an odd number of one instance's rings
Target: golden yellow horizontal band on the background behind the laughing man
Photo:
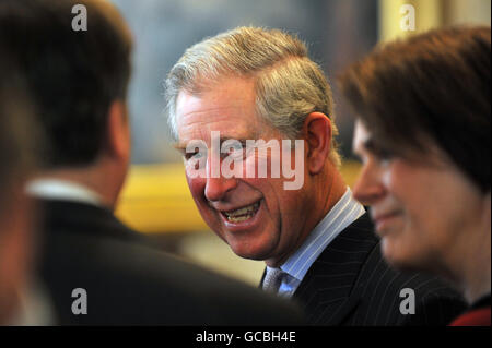
[[[349,185],[360,164],[345,161],[342,175]],[[116,215],[147,233],[208,230],[195,205],[181,164],[132,166]]]

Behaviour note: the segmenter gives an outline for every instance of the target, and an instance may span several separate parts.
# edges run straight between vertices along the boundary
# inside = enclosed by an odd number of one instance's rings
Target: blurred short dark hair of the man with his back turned
[[[87,31],[75,32],[75,4]],[[131,36],[119,13],[97,0],[1,0],[0,45],[25,74],[50,167],[87,165],[99,154],[110,103],[125,99]]]

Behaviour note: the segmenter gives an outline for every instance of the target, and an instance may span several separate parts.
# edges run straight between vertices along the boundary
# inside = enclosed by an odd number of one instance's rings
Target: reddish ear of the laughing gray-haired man
[[[325,113],[312,112],[304,121],[303,133],[307,145],[307,169],[312,175],[319,173],[331,149],[331,121]]]

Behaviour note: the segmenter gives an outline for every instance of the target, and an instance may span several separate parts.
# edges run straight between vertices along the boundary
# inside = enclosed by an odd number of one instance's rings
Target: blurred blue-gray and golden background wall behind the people
[[[379,40],[405,37],[450,24],[490,25],[490,0],[113,0],[136,38],[129,105],[132,168],[117,214],[149,233],[162,248],[218,272],[257,284],[261,262],[235,256],[210,231],[191,200],[177,152],[171,146],[163,81],[185,49],[207,36],[239,25],[276,27],[297,34],[331,82],[345,64]],[[401,21],[414,9],[414,31]],[[403,19],[405,17],[405,19]],[[339,97],[336,122],[345,157],[342,172],[351,184],[353,115]]]

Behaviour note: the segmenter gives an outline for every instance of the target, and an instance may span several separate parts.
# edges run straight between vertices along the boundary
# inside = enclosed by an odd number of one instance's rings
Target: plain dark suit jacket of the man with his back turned
[[[57,232],[46,233],[42,250],[39,272],[60,324],[302,323],[300,311],[291,303],[241,281],[145,243],[74,228],[78,231],[70,232],[70,224],[57,224]],[[87,314],[72,313],[72,291],[77,288],[87,293]]]

